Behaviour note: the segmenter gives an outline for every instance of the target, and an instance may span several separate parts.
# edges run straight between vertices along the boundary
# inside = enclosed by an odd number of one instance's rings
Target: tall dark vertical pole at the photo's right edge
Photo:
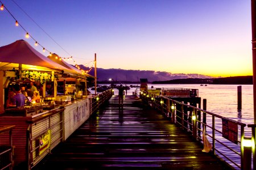
[[[253,50],[253,104],[254,104],[254,124],[256,124],[256,0],[251,0],[251,31]]]

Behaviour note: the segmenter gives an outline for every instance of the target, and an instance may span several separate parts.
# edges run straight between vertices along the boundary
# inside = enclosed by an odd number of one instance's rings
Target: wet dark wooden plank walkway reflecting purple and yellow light
[[[92,115],[33,169],[232,169],[135,96]]]

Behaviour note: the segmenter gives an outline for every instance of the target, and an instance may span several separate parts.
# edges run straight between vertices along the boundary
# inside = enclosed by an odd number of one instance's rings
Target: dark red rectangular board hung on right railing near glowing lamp
[[[222,118],[222,137],[233,143],[238,143],[238,126],[235,122]]]

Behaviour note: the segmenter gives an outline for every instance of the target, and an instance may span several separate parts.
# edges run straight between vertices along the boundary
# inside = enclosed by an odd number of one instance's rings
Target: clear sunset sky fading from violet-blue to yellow
[[[36,41],[78,64],[97,53],[104,69],[252,75],[250,0],[1,1]],[[6,10],[0,22],[0,46],[34,45]]]

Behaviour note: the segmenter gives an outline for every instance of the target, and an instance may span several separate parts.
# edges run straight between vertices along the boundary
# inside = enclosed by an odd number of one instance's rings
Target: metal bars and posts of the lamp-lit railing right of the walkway
[[[215,151],[217,151],[222,156],[224,156],[227,160],[229,160],[231,163],[236,165],[238,168],[243,167],[243,165],[245,164],[245,159],[243,159],[244,158],[244,156],[243,156],[244,155],[243,141],[245,138],[244,137],[244,128],[245,128],[246,124],[232,120],[230,118],[220,116],[220,115],[212,113],[212,112],[205,111],[204,109],[197,108],[196,106],[193,106],[193,105],[188,105],[188,104],[182,103],[181,101],[177,101],[177,100],[170,99],[168,97],[164,97],[164,96],[160,96],[160,95],[156,95],[156,94],[150,94],[147,91],[142,91],[140,96],[144,101],[146,101],[148,104],[150,104],[151,107],[158,109],[158,111],[166,114],[167,117],[171,117],[171,121],[173,123],[179,124],[183,129],[186,129],[190,133],[192,133],[193,137],[197,141],[198,141],[198,139],[203,141],[203,138],[201,137],[201,135],[197,135],[197,133],[201,134],[203,132],[202,129],[204,126],[212,129],[212,136],[210,136],[207,133],[205,133],[205,134],[208,135],[210,138],[212,138],[213,154],[216,154]],[[152,99],[151,99],[151,97],[152,97]],[[180,106],[178,108],[176,108],[178,105],[180,105]],[[184,107],[186,109],[183,109]],[[203,121],[201,121],[202,112],[203,112]],[[186,115],[186,118],[184,117],[184,115]],[[193,119],[193,115],[195,115],[195,117],[196,117],[195,119]],[[209,126],[207,124],[207,120],[206,120],[207,115],[212,117],[212,123],[211,123],[212,126]],[[241,145],[241,154],[238,151],[234,150],[232,147],[230,147],[231,145],[228,145],[228,144],[222,142],[222,140],[224,140],[224,139],[229,140],[229,138],[224,138],[222,136],[221,137],[222,139],[220,141],[218,138],[215,137],[215,132],[220,135],[224,134],[224,133],[222,133],[222,131],[218,130],[215,127],[215,124],[216,124],[215,118],[219,118],[220,120],[225,120],[227,122],[236,124],[237,128],[238,128],[238,125],[241,127],[240,135],[237,134],[237,137],[240,137],[241,140],[237,139],[238,141],[232,140],[233,142],[229,142],[229,143],[232,143],[232,145],[240,144]],[[209,122],[209,124],[210,124],[210,122]],[[251,126],[254,126],[254,125],[251,125]],[[255,125],[255,127],[256,127],[256,125]],[[238,130],[237,130],[237,133],[238,133]],[[221,151],[218,148],[216,148],[216,145],[215,145],[216,142],[218,143],[218,145],[224,146],[225,148],[227,148],[227,150],[230,150],[230,151],[234,152],[234,154],[237,154],[238,156],[240,156],[241,157],[241,165],[239,165],[237,162],[234,162],[232,160],[232,158],[229,158],[227,155],[222,154]],[[237,148],[237,150],[238,149],[239,148]]]

